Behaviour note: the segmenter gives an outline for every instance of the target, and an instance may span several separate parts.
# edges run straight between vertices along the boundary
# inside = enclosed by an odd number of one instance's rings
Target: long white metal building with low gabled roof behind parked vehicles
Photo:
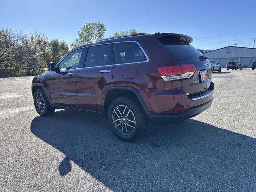
[[[208,60],[214,60],[226,67],[230,61],[239,61],[244,67],[251,67],[256,60],[256,48],[228,46],[204,53]]]

